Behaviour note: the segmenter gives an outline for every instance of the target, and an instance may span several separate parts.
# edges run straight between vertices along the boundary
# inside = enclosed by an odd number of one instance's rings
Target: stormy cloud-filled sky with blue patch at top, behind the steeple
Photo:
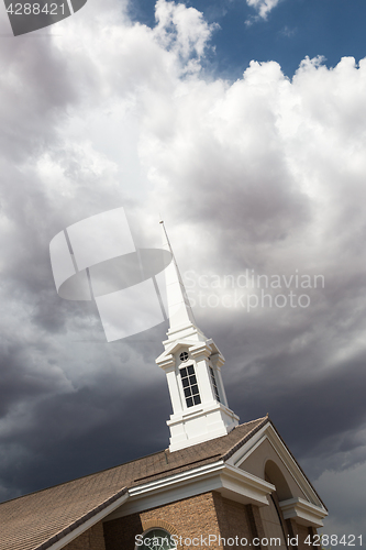
[[[1,501],[168,446],[167,324],[107,342],[51,268],[57,233],[123,207],[141,248],[164,218],[230,407],[269,413],[323,532],[366,536],[365,18],[88,0],[14,37],[0,10]]]

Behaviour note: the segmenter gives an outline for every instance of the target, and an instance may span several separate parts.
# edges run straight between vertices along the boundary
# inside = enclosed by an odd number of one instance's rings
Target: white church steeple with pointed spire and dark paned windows
[[[225,436],[239,424],[229,408],[221,377],[224,358],[197,327],[187,293],[163,226],[163,248],[173,261],[165,270],[168,339],[156,363],[165,371],[171,398],[170,451]]]

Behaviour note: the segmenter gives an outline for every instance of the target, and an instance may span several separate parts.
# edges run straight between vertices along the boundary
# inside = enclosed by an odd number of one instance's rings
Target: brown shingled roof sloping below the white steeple
[[[0,504],[0,550],[46,550],[120,498],[153,480],[228,460],[268,417],[179,451],[164,450],[119,466]]]

